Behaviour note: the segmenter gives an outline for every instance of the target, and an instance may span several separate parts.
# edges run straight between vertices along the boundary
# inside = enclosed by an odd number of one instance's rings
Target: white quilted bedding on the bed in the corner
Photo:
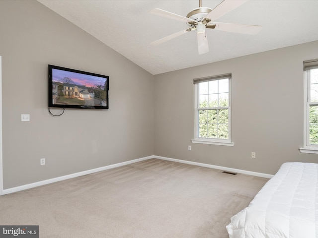
[[[318,238],[317,188],[318,164],[284,163],[231,218],[230,238]]]

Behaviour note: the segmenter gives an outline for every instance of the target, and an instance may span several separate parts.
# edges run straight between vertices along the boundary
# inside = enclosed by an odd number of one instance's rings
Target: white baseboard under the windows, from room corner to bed
[[[262,177],[262,178],[267,178],[267,179],[271,179],[273,177],[273,175],[269,175],[269,174],[262,174],[262,173],[246,171],[246,170],[238,170],[238,169],[233,169],[233,168],[228,168],[228,167],[222,167],[222,166],[217,166],[217,165],[209,165],[209,164],[203,164],[203,163],[186,161],[186,160],[172,159],[172,158],[156,156],[156,155],[154,156],[154,158],[160,159],[160,160],[168,160],[168,161],[188,164],[188,165],[196,165],[196,166],[201,166],[201,167],[207,167],[207,168],[216,169],[216,170],[224,170],[224,171],[229,171],[229,172],[234,172],[234,173],[239,173],[239,174],[244,174],[244,175],[252,175],[252,176]]]

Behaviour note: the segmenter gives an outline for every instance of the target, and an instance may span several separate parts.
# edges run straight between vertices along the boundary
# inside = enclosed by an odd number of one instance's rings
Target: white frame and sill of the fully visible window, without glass
[[[215,81],[215,80],[222,80],[222,79],[229,79],[229,106],[228,107],[217,107],[219,109],[228,109],[229,112],[229,138],[223,139],[223,138],[204,138],[199,137],[199,111],[202,110],[202,108],[198,107],[199,102],[199,83],[201,82],[209,82],[209,81]],[[194,139],[192,139],[192,143],[201,143],[201,144],[211,144],[211,145],[224,145],[224,146],[234,146],[234,143],[232,142],[232,130],[231,130],[231,81],[232,81],[232,74],[223,74],[223,75],[217,75],[217,76],[211,76],[211,77],[205,77],[205,78],[197,78],[193,79],[194,84]],[[217,109],[214,108],[214,109]],[[207,109],[209,110],[209,109]]]

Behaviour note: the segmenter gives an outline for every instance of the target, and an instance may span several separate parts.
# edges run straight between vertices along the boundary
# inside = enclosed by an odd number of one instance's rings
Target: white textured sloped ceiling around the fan
[[[153,46],[188,28],[149,13],[161,8],[186,16],[199,0],[38,0],[152,74],[227,60],[318,40],[318,0],[249,0],[217,19],[261,25],[257,35],[207,29],[210,52],[198,55],[195,31]],[[202,0],[214,8],[222,0]]]

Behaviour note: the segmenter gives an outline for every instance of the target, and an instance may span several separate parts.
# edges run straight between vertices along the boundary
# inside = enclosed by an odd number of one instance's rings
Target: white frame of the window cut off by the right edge
[[[311,69],[318,69],[318,60],[304,61],[304,146],[299,150],[301,153],[318,154],[318,145],[310,143],[310,106],[318,105],[318,102],[311,102]]]

